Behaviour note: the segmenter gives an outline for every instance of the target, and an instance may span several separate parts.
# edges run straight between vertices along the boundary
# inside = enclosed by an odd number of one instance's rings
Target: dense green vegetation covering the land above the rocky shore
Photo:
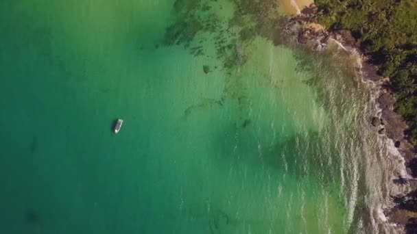
[[[379,73],[390,77],[396,112],[417,145],[417,1],[315,0],[315,5],[319,23],[350,30]]]

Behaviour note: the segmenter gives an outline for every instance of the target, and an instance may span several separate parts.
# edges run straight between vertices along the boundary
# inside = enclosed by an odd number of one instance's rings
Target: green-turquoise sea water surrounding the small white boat
[[[0,233],[379,233],[398,160],[281,2],[3,0]],[[123,118],[119,134],[115,119]]]

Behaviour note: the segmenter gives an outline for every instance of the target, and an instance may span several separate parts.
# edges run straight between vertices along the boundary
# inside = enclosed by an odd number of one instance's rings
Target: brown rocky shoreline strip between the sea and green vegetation
[[[398,175],[393,183],[398,186],[409,186],[412,192],[393,195],[394,207],[385,211],[388,220],[400,224],[406,233],[417,233],[417,157],[416,147],[407,140],[407,124],[403,118],[394,112],[395,98],[390,90],[390,79],[381,77],[379,67],[372,65],[359,49],[359,42],[348,30],[330,31],[319,25],[316,21],[318,10],[310,5],[301,11],[301,14],[289,19],[285,25],[285,36],[298,44],[304,44],[311,51],[321,51],[330,42],[335,42],[342,49],[357,53],[360,61],[357,62],[358,73],[364,82],[372,84],[372,94],[379,111],[369,116],[372,125],[379,135],[386,135],[392,140],[394,146],[405,160],[407,174]]]

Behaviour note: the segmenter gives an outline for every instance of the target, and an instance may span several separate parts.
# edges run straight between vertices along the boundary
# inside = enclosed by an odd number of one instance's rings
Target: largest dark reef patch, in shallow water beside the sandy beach
[[[177,0],[174,3],[174,23],[165,30],[163,44],[182,45],[194,56],[204,55],[202,40],[195,42],[199,34],[210,34],[215,39],[217,59],[224,68],[232,69],[245,64],[245,47],[257,36],[281,44],[279,33],[285,17],[278,14],[275,0],[233,0],[235,12],[229,19],[219,16],[222,5],[211,0]]]

